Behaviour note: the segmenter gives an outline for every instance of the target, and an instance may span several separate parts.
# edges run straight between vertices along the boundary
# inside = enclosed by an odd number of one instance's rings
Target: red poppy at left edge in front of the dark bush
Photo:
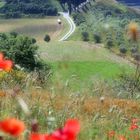
[[[10,71],[12,69],[13,62],[11,60],[5,60],[2,53],[0,53],[0,69]]]

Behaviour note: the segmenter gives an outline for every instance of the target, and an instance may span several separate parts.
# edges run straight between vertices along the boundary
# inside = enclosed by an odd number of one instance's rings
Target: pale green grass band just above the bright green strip
[[[125,59],[116,56],[101,44],[82,41],[53,41],[39,48],[42,58],[48,62],[54,61],[112,61],[129,65]]]

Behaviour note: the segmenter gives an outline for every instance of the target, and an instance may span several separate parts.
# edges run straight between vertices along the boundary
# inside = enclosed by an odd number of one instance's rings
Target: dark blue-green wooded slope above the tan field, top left
[[[0,13],[6,18],[26,15],[55,16],[61,8],[57,0],[5,0]]]

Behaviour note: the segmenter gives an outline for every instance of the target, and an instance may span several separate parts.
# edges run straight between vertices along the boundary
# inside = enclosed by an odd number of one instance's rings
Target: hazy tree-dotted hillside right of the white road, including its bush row
[[[130,52],[138,46],[129,39],[128,25],[130,22],[140,24],[139,17],[138,12],[122,4],[92,1],[73,13],[79,29],[75,36],[81,34],[81,38],[73,38],[103,43],[109,49],[119,50],[124,47]]]

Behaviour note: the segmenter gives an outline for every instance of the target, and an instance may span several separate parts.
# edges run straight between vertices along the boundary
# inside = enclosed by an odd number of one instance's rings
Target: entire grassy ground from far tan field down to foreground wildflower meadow
[[[20,83],[22,72],[6,73],[8,80],[0,75],[4,79],[0,119],[10,116],[23,120],[27,128],[22,136],[26,139],[34,119],[40,133],[51,133],[68,118],[77,118],[81,123],[77,140],[140,140],[140,128],[130,130],[132,120],[140,119],[139,92],[130,98],[130,91],[121,85],[119,77],[124,72],[133,75],[135,65],[103,44],[74,41],[74,36],[68,41],[58,41],[69,26],[62,17],[63,24],[59,26],[57,18],[0,19],[0,32],[16,31],[37,40],[38,54],[51,66],[52,73],[45,88],[36,84],[34,74],[25,74]],[[46,33],[51,36],[49,43],[43,40]],[[75,40],[80,38],[78,35]],[[18,78],[12,85],[15,75]],[[23,89],[19,88],[22,84]],[[111,135],[112,131],[115,134]],[[17,140],[23,140],[22,136]],[[12,139],[15,138],[8,137]]]

